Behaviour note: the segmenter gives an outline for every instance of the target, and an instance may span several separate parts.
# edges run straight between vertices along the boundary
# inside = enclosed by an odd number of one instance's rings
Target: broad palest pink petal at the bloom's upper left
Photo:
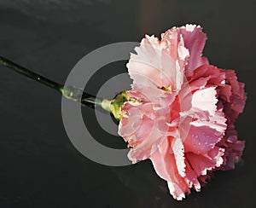
[[[146,36],[146,38],[143,38],[141,45],[135,50],[137,55],[131,54],[131,59],[127,64],[134,84],[147,84],[147,86],[154,84],[158,88],[174,86],[175,79],[170,76],[170,72],[176,73],[176,64],[172,57],[161,50],[158,38]],[[164,59],[167,61],[166,68],[162,66],[162,60],[165,56],[168,56]],[[142,79],[143,82],[140,82]]]

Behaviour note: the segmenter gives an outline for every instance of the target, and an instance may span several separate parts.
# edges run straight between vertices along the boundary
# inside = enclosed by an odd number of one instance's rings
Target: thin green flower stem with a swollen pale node
[[[63,84],[58,84],[50,80],[49,78],[44,78],[38,73],[32,72],[26,67],[20,66],[13,61],[9,61],[8,59],[3,58],[2,56],[0,56],[0,64],[13,69],[15,70],[15,72],[19,72],[20,74],[28,78],[32,78],[38,83],[44,84],[52,89],[59,91],[62,95],[64,95],[69,100],[79,101],[81,102],[82,105],[87,107],[92,107],[92,108],[102,107],[104,110],[110,112],[111,101],[108,101],[107,99],[96,98],[96,96],[94,95],[85,93],[83,89],[79,89],[73,86],[64,86]]]

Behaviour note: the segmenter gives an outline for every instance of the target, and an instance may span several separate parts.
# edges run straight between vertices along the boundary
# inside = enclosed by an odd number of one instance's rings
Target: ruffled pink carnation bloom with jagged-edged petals
[[[229,170],[240,159],[234,121],[246,101],[233,70],[202,57],[201,26],[173,27],[143,38],[127,64],[133,79],[119,135],[129,159],[151,159],[175,199],[201,190],[212,170]]]

